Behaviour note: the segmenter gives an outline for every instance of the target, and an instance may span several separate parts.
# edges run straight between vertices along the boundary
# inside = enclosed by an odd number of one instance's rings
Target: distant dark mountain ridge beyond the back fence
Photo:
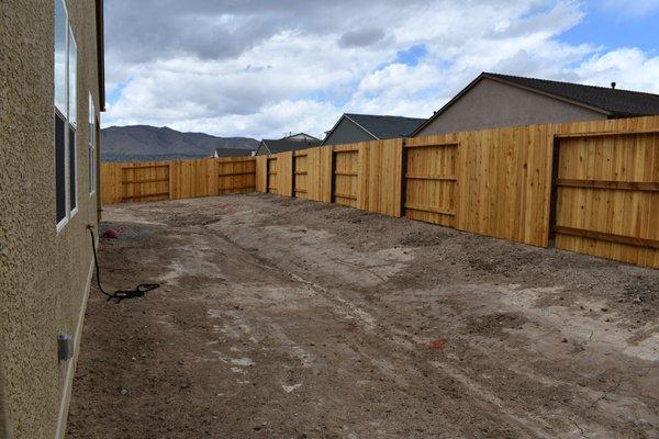
[[[258,149],[249,137],[215,137],[148,125],[111,126],[101,131],[103,161],[166,160],[210,157],[216,148]]]

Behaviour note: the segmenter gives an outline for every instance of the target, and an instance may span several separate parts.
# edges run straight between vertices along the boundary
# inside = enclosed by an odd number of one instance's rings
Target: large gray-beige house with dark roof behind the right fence
[[[496,126],[659,114],[659,95],[545,79],[481,74],[413,136]]]

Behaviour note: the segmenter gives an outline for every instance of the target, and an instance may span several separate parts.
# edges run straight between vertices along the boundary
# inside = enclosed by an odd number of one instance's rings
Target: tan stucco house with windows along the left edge
[[[102,12],[101,0],[0,1],[3,439],[66,429],[100,215]]]

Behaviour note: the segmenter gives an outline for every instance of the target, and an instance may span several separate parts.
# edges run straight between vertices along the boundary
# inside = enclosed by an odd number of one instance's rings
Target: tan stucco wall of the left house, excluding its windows
[[[57,233],[54,3],[0,1],[0,385],[12,438],[52,439],[64,428],[74,362],[57,361],[57,335],[81,327],[92,261],[87,119],[89,91],[99,102],[96,7],[66,3],[78,44],[79,212]]]

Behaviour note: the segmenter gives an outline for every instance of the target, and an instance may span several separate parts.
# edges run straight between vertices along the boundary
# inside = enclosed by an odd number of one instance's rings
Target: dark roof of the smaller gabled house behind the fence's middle
[[[351,121],[373,137],[375,140],[409,136],[417,126],[425,122],[425,119],[416,117],[345,113],[327,133],[325,140],[330,138],[344,119]],[[325,140],[323,140],[323,144]]]

